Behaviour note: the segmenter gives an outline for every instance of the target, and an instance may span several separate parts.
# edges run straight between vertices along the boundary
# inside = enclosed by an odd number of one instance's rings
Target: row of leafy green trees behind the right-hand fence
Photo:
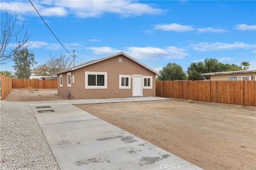
[[[206,58],[202,62],[193,62],[189,65],[187,73],[182,67],[175,63],[168,63],[159,71],[158,80],[204,80],[210,79],[202,73],[223,72],[223,71],[241,71],[247,70],[249,62],[241,62],[241,66],[236,64],[223,64],[214,58]]]

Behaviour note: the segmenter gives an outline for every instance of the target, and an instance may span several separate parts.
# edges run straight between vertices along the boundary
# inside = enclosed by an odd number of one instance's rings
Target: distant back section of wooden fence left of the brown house
[[[12,88],[57,89],[57,80],[12,79]]]

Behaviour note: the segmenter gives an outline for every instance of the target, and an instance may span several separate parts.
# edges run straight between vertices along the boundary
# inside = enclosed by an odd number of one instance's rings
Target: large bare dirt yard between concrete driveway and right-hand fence
[[[76,106],[204,169],[256,168],[256,107],[178,99]]]

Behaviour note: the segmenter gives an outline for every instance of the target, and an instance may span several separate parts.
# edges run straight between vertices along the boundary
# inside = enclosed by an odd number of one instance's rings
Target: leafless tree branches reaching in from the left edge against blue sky
[[[27,31],[23,31],[25,22],[23,22],[22,27],[17,30],[17,14],[15,13],[15,17],[12,20],[6,10],[5,13],[6,18],[3,19],[1,17],[0,64],[6,64],[12,60],[16,50],[31,45],[27,43],[30,35],[28,35]]]

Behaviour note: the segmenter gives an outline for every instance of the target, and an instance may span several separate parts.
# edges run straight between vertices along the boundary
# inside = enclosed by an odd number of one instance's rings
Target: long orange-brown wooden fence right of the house
[[[156,96],[256,106],[256,81],[156,81]]]

